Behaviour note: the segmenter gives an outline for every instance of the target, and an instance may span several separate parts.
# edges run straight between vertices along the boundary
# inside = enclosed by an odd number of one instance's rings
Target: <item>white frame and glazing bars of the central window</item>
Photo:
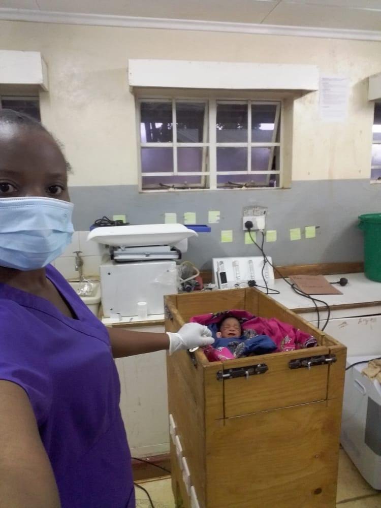
[[[238,95],[238,94],[237,94]],[[140,132],[140,124],[141,124],[141,116],[140,116],[140,104],[142,102],[171,102],[172,104],[172,124],[173,124],[173,137],[172,142],[165,142],[165,143],[142,143],[141,142],[141,132]],[[189,103],[204,103],[206,104],[207,108],[207,114],[205,117],[208,118],[208,135],[207,135],[207,142],[203,143],[181,143],[177,142],[177,125],[176,125],[176,102],[189,102]],[[247,141],[242,143],[224,143],[224,142],[218,142],[216,141],[216,114],[217,114],[217,103],[224,103],[224,104],[246,104],[248,108],[248,124],[247,124]],[[251,111],[252,111],[252,105],[276,105],[276,112],[275,112],[275,121],[274,124],[278,123],[277,129],[278,129],[278,139],[279,141],[275,141],[276,139],[276,130],[274,129],[273,132],[273,141],[272,142],[252,142],[251,140]],[[194,97],[191,97],[187,95],[186,97],[182,97],[180,94],[168,96],[166,94],[163,95],[153,95],[153,94],[139,94],[135,98],[135,110],[136,110],[136,133],[137,133],[137,145],[138,145],[138,171],[139,171],[139,192],[141,193],[153,193],[153,192],[173,192],[176,190],[176,192],[184,192],[184,191],[192,191],[192,190],[231,190],[231,187],[218,187],[217,186],[217,175],[226,174],[226,175],[259,175],[259,174],[266,174],[268,175],[267,183],[269,182],[270,176],[273,174],[279,175],[279,185],[277,187],[269,187],[269,186],[263,186],[263,187],[243,187],[243,189],[247,188],[255,188],[255,189],[281,189],[283,187],[284,182],[284,174],[283,174],[283,150],[284,142],[284,112],[283,112],[283,98],[274,98],[274,99],[256,99],[256,98],[248,98],[248,97],[224,97],[224,96],[213,96],[213,97],[205,97],[205,96],[197,96],[195,94]],[[280,116],[280,121],[279,121]],[[205,125],[205,124],[204,124]],[[205,137],[205,131],[204,131],[204,137]],[[173,172],[162,172],[162,173],[143,173],[142,172],[142,161],[141,161],[141,148],[142,147],[166,147],[166,148],[172,148],[172,156],[173,156]],[[216,149],[217,147],[247,147],[247,170],[246,171],[218,171],[216,167]],[[201,172],[179,172],[177,168],[177,148],[178,147],[205,147],[209,150],[209,168],[208,171],[201,171]],[[268,170],[267,171],[251,171],[251,148],[253,147],[269,147],[271,148],[270,157],[269,157],[269,163],[268,163]],[[271,171],[271,165],[273,161],[274,151],[275,148],[279,148],[279,169]],[[204,162],[203,162],[204,166]],[[143,188],[143,177],[149,177],[149,176],[174,176],[181,174],[181,176],[203,176],[205,178],[209,177],[209,186],[208,187],[200,187],[200,184],[188,184],[188,187],[186,189],[181,188],[164,188],[164,189],[158,189],[158,188]],[[194,188],[192,188],[194,187]],[[237,187],[236,189],[240,189]]]

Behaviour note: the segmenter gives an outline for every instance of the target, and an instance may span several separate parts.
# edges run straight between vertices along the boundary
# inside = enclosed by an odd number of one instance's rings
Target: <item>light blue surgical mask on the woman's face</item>
[[[73,204],[55,198],[0,198],[0,266],[36,270],[71,242]]]

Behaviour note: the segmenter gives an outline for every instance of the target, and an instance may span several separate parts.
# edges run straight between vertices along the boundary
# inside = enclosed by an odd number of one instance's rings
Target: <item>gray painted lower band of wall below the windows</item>
[[[165,212],[196,212],[197,223],[207,224],[208,211],[219,210],[219,224],[189,242],[184,259],[202,270],[211,258],[259,256],[254,245],[244,244],[242,208],[268,207],[266,229],[277,230],[277,241],[265,252],[277,265],[361,261],[362,232],[358,215],[381,212],[381,185],[369,180],[314,180],[293,182],[291,189],[210,190],[141,194],[135,185],[72,187],[75,230],[87,230],[95,219],[125,214],[131,224],[164,222]],[[290,228],[319,226],[316,238],[290,241]],[[221,243],[221,230],[233,230],[233,243]],[[302,229],[303,233],[303,229]]]

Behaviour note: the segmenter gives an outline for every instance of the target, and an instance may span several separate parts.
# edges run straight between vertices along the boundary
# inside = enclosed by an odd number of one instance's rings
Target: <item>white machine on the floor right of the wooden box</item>
[[[381,384],[361,374],[381,355],[350,356],[345,373],[340,442],[365,480],[381,489]]]

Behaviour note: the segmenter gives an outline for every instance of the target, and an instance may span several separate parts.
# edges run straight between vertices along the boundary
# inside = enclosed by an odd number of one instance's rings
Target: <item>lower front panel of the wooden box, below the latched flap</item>
[[[207,508],[334,508],[340,415],[331,402],[207,429]]]

